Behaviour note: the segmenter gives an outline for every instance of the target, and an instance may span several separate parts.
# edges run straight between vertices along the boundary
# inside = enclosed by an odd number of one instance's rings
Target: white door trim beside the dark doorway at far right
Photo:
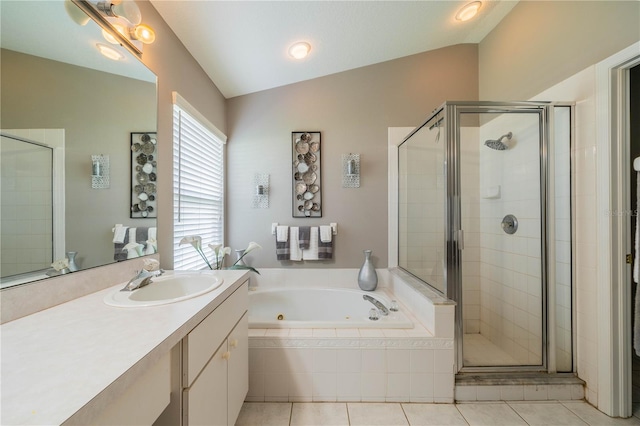
[[[598,409],[613,417],[632,414],[631,321],[625,297],[630,279],[624,263],[627,221],[607,213],[624,211],[627,204],[625,197],[618,196],[629,169],[620,83],[626,70],[639,61],[640,42],[596,64]]]

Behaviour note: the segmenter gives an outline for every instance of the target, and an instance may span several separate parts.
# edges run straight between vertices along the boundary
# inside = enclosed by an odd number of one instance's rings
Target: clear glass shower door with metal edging
[[[456,114],[462,367],[543,369],[544,110]]]

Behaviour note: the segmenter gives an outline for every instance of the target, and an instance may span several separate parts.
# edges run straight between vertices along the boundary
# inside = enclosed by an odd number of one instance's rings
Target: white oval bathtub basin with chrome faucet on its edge
[[[249,328],[413,328],[402,312],[369,319],[368,294],[387,308],[391,300],[381,290],[342,288],[271,288],[249,292]]]

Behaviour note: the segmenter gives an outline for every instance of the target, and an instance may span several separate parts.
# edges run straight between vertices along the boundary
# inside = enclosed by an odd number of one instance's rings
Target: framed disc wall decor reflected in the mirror
[[[131,218],[158,217],[158,141],[155,132],[131,133]]]

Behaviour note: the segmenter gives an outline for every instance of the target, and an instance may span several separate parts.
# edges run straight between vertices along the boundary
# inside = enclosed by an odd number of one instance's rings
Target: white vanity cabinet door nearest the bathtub
[[[245,313],[229,334],[228,424],[234,425],[249,391],[249,322]]]

